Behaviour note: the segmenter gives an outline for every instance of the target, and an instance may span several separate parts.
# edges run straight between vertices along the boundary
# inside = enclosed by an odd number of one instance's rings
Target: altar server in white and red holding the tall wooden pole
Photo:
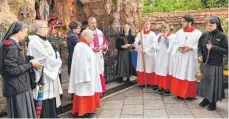
[[[141,39],[142,34],[142,39]],[[137,82],[140,87],[143,87],[145,83],[150,86],[154,86],[154,53],[157,45],[156,34],[150,30],[150,22],[146,20],[144,22],[143,32],[137,34],[135,38],[135,47],[138,51],[137,58]],[[143,49],[142,49],[143,44]],[[145,64],[143,64],[143,55],[145,58]],[[144,66],[145,65],[145,70]],[[146,81],[146,82],[145,82]]]

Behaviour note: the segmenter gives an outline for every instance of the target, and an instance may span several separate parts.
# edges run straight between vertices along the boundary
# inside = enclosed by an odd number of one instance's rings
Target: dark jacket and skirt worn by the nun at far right
[[[211,43],[212,49],[208,56],[207,44]],[[203,79],[198,89],[198,95],[210,102],[221,101],[225,97],[223,80],[223,55],[228,54],[228,38],[226,34],[216,29],[202,34],[198,44],[198,54],[203,57],[201,71]],[[207,60],[208,59],[208,60]]]

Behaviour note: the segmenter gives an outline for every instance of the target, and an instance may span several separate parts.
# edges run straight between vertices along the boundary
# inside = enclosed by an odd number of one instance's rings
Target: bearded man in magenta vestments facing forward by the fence
[[[104,36],[103,32],[97,28],[97,21],[94,17],[90,17],[88,19],[88,28],[93,31],[94,38],[93,42],[90,44],[92,50],[95,53],[96,56],[96,63],[99,67],[99,74],[100,74],[100,80],[102,83],[102,92],[105,93],[106,87],[105,87],[105,77],[104,77],[104,53],[108,50],[108,41],[106,37]]]

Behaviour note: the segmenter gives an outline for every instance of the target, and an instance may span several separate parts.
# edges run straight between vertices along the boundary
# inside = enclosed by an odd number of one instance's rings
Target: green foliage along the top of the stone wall
[[[227,0],[141,0],[144,13],[228,7]]]

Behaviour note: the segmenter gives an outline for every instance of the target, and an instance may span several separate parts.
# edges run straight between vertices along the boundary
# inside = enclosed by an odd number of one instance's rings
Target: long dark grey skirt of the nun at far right
[[[202,65],[203,79],[198,87],[198,95],[210,102],[222,101],[225,98],[223,66]]]

